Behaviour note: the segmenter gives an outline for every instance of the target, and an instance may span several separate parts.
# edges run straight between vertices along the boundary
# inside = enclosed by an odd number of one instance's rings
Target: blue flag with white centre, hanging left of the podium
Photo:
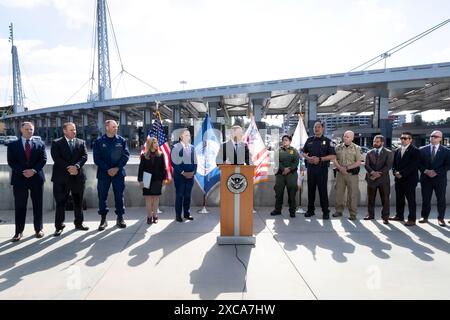
[[[194,146],[197,154],[195,180],[203,192],[208,194],[209,190],[220,181],[220,170],[216,163],[220,151],[220,138],[216,135],[208,114],[195,134]]]

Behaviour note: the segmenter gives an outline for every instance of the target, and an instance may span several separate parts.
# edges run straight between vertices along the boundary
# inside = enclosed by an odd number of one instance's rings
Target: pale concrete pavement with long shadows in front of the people
[[[127,209],[123,230],[110,214],[103,232],[96,210],[87,232],[68,212],[57,238],[46,212],[42,239],[29,211],[19,243],[13,212],[0,211],[0,299],[450,299],[450,228],[437,226],[436,208],[413,228],[257,208],[254,247],[216,244],[219,208],[192,208],[185,223],[161,209],[151,226],[144,208]]]

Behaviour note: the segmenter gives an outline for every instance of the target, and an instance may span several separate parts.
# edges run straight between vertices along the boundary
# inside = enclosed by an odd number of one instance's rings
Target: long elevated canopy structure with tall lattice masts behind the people
[[[97,94],[91,94],[87,102],[34,110],[24,109],[19,105],[21,98],[15,98],[14,112],[0,118],[8,134],[19,135],[20,123],[32,121],[36,135],[50,142],[62,136],[62,124],[71,121],[81,138],[92,141],[104,132],[104,121],[114,119],[121,135],[143,141],[156,110],[169,131],[190,127],[206,113],[217,128],[229,124],[234,116],[253,114],[258,127],[265,129],[263,119],[269,115],[289,117],[301,112],[306,127],[312,128],[318,113],[371,112],[373,123],[365,134],[383,134],[390,144],[391,114],[450,110],[450,62],[112,98],[107,11],[106,0],[97,0]],[[15,46],[12,53],[18,69]],[[19,95],[18,80],[15,77],[14,93]]]

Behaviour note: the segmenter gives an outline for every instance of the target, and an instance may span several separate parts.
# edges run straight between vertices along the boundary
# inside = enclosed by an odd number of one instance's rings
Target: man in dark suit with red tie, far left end
[[[43,168],[47,163],[45,144],[40,139],[32,139],[34,125],[22,123],[22,138],[8,144],[8,165],[12,169],[11,184],[14,193],[16,233],[13,242],[23,236],[27,214],[28,192],[33,202],[33,223],[36,238],[42,238],[42,198],[45,176]]]

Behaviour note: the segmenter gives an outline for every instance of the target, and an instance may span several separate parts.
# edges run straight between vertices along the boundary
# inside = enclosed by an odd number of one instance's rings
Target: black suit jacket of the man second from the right
[[[406,149],[402,158],[402,148],[398,148],[394,153],[394,163],[392,165],[392,173],[400,172],[401,179],[395,178],[396,182],[417,185],[419,181],[419,161],[420,153],[412,144]]]

